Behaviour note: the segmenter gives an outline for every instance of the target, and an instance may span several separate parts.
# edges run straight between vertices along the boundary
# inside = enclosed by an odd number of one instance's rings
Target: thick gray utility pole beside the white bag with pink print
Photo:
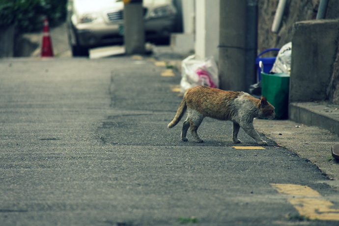
[[[246,91],[246,0],[220,1],[220,88]]]

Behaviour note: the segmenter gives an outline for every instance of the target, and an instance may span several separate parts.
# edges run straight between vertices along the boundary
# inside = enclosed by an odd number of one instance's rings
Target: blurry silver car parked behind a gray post
[[[69,0],[67,31],[73,56],[88,49],[123,43],[122,0]],[[143,0],[146,41],[169,38],[176,9],[172,0]]]

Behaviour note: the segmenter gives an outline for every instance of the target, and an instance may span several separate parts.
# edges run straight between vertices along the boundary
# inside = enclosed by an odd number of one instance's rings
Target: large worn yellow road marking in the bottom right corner
[[[339,209],[331,209],[333,203],[322,199],[322,196],[308,186],[297,184],[270,184],[279,193],[293,196],[287,200],[300,215],[312,220],[339,221]]]

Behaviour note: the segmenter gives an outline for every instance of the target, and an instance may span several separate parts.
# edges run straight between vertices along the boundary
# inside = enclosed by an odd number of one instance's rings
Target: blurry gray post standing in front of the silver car
[[[145,53],[142,0],[124,0],[124,44],[127,55]]]

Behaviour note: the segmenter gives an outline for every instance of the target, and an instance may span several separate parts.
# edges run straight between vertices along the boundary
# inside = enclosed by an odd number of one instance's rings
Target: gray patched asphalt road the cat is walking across
[[[235,145],[231,123],[206,118],[204,143],[181,141],[182,123],[167,128],[180,76],[164,70],[132,57],[1,60],[0,225],[339,224],[326,175],[263,134],[265,149],[243,130]]]

